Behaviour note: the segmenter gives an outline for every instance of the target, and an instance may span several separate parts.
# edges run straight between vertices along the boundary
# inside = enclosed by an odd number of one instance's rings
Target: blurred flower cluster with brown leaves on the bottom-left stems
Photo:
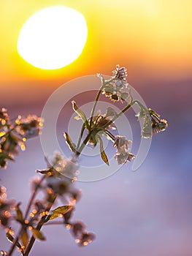
[[[28,252],[28,246],[34,239],[45,240],[44,234],[40,231],[42,225],[49,225],[58,217],[62,219],[59,224],[71,229],[75,241],[80,246],[91,243],[95,238],[93,233],[85,230],[82,222],[72,221],[74,205],[80,199],[80,190],[74,187],[74,173],[77,173],[77,168],[77,161],[75,162],[74,158],[65,159],[56,153],[47,169],[37,170],[41,176],[32,179],[32,197],[26,212],[21,210],[20,203],[7,200],[6,189],[0,187],[0,224],[7,227],[8,240],[13,244],[17,241],[15,246],[22,255]],[[36,199],[37,194],[41,195],[41,200]],[[65,204],[60,206],[61,202]],[[22,226],[17,238],[14,238],[14,232],[9,228],[10,219]]]

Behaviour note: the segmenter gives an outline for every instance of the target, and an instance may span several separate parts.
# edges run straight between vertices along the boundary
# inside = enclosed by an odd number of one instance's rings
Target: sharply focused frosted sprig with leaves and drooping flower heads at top
[[[93,148],[99,144],[101,159],[109,165],[102,140],[102,137],[106,136],[107,139],[112,140],[114,147],[117,148],[115,159],[118,161],[118,164],[126,164],[126,162],[131,162],[131,160],[135,158],[135,155],[129,152],[128,146],[131,143],[130,140],[126,140],[125,137],[120,135],[114,136],[110,131],[110,129],[115,129],[115,120],[117,118],[132,108],[134,104],[139,105],[139,113],[137,114],[137,117],[139,121],[143,118],[142,138],[151,138],[153,134],[164,131],[168,124],[165,119],[160,119],[160,116],[155,113],[154,110],[147,110],[141,102],[137,99],[133,99],[131,91],[128,88],[126,67],[120,67],[117,65],[116,69],[112,71],[112,77],[109,80],[104,79],[104,76],[100,73],[97,74],[97,76],[101,80],[101,87],[96,95],[96,101],[94,102],[91,110],[91,117],[87,118],[85,113],[77,107],[76,102],[72,101],[73,109],[78,114],[78,118],[76,117],[76,119],[82,119],[83,121],[77,146],[66,132],[64,133],[64,137],[66,138],[66,143],[69,148],[77,155],[77,157],[81,154],[82,149],[88,143],[91,144]],[[124,91],[124,89],[126,89],[126,91]],[[113,108],[108,107],[105,114],[101,114],[99,111],[99,113],[94,116],[94,111],[96,110],[96,104],[99,101],[100,94],[104,94],[105,97],[109,97],[115,102],[127,102],[126,99],[128,98],[128,104],[119,113],[117,113]],[[87,132],[87,136],[82,145],[80,145],[85,130]]]

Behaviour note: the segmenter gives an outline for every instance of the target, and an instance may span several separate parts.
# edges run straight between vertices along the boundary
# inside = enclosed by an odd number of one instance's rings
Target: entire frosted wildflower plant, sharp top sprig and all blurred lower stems
[[[93,148],[99,146],[101,159],[105,164],[110,165],[104,151],[103,139],[106,137],[116,149],[114,157],[118,164],[131,162],[135,157],[130,151],[131,140],[124,135],[114,135],[113,129],[115,129],[115,121],[134,105],[139,107],[136,115],[138,120],[143,119],[142,138],[151,138],[153,134],[164,131],[168,126],[166,119],[161,119],[155,110],[147,109],[137,99],[133,99],[125,67],[117,65],[110,79],[105,79],[101,74],[97,76],[101,86],[93,102],[90,116],[85,116],[76,102],[72,101],[72,108],[78,116],[76,119],[82,120],[80,136],[76,143],[67,132],[64,132],[72,157],[66,159],[60,153],[55,153],[53,159],[45,156],[47,167],[44,170],[37,170],[37,175],[31,180],[31,197],[26,211],[21,210],[20,203],[8,200],[6,188],[0,186],[0,224],[6,230],[7,239],[11,242],[9,251],[2,250],[1,255],[12,255],[15,248],[18,248],[21,255],[29,255],[36,239],[45,240],[42,227],[50,224],[64,225],[80,246],[91,243],[95,235],[88,232],[82,222],[72,219],[74,206],[80,199],[80,191],[74,187],[74,181],[77,180],[80,172],[78,159],[83,149],[88,144]],[[113,103],[122,102],[123,108],[117,112],[114,108],[108,107],[105,113],[96,113],[96,106],[102,95]],[[18,148],[24,150],[26,140],[39,135],[42,127],[42,118],[29,115],[27,118],[18,116],[10,119],[7,110],[1,108],[0,167],[6,167],[9,160],[13,161],[15,154],[18,154]],[[12,222],[18,223],[17,232],[12,229]]]

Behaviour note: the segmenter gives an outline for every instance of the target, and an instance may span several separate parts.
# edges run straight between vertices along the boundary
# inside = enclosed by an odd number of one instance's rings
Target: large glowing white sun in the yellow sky
[[[41,69],[59,69],[82,53],[88,36],[85,18],[69,7],[39,10],[24,23],[18,36],[18,53]]]

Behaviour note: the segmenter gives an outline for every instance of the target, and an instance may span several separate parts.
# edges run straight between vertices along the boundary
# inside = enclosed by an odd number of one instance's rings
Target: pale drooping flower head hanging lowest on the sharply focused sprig
[[[115,159],[117,159],[119,165],[131,162],[134,159],[134,154],[128,152],[131,140],[126,140],[126,137],[117,135],[115,136],[114,147],[117,148]]]

